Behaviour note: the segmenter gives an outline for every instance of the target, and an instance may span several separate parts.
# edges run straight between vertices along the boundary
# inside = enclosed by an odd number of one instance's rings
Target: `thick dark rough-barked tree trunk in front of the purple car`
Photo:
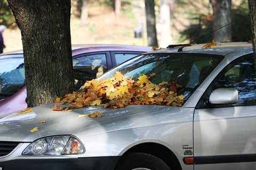
[[[72,92],[70,0],[7,2],[21,31],[28,107]]]

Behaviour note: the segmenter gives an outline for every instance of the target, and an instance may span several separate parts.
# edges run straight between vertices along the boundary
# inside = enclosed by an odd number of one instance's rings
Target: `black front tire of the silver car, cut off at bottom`
[[[171,170],[163,160],[145,153],[135,152],[120,158],[115,170]]]

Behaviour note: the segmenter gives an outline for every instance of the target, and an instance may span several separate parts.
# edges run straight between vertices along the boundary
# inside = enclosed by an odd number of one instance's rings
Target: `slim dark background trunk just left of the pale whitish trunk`
[[[158,47],[154,0],[145,0],[148,46]]]

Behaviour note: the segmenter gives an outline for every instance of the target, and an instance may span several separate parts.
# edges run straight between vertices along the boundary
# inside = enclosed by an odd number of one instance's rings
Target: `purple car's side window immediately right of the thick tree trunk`
[[[108,70],[106,54],[83,55],[73,59],[75,90]]]

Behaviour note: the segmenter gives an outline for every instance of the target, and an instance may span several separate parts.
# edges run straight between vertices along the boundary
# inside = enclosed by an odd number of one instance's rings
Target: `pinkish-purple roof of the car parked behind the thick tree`
[[[107,44],[77,44],[72,45],[72,55],[81,54],[81,51],[86,50],[86,53],[101,52],[101,51],[131,51],[131,52],[149,52],[152,47],[149,46],[135,46],[135,45],[107,45]],[[14,50],[12,52],[6,52],[0,54],[22,54],[23,50]]]

